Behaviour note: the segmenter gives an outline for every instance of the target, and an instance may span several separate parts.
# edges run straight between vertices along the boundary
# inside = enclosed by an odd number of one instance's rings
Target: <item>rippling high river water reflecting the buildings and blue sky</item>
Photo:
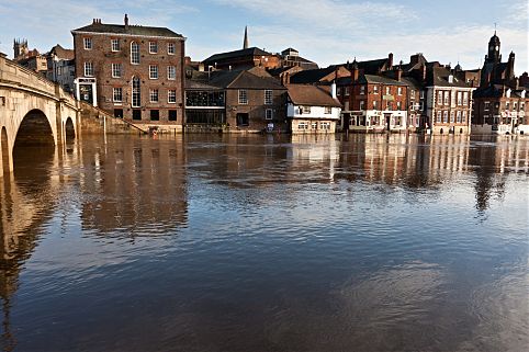
[[[83,136],[0,180],[4,351],[525,351],[529,138]]]

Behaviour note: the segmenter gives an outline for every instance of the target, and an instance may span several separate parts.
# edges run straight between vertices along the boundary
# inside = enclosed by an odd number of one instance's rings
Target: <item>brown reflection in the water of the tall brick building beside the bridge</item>
[[[83,148],[81,222],[97,234],[175,234],[187,225],[183,136],[109,139]]]

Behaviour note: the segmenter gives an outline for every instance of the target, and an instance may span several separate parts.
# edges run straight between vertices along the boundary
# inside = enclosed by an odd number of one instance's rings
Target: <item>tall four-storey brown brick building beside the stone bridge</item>
[[[134,124],[181,130],[185,38],[166,27],[92,24],[71,31],[78,99]]]

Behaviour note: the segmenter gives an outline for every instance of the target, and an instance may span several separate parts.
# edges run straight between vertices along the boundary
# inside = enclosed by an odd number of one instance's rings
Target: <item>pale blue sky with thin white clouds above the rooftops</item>
[[[12,57],[13,38],[41,53],[72,47],[71,30],[103,23],[166,26],[187,37],[193,60],[250,46],[280,53],[293,47],[320,67],[394,54],[394,64],[423,53],[429,61],[483,65],[494,34],[503,60],[516,54],[517,76],[529,70],[528,0],[0,0],[0,52]]]

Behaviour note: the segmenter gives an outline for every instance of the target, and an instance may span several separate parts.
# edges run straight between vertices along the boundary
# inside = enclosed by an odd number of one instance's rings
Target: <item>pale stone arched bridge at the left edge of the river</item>
[[[21,146],[65,146],[80,128],[79,102],[58,84],[0,53],[0,178]]]

